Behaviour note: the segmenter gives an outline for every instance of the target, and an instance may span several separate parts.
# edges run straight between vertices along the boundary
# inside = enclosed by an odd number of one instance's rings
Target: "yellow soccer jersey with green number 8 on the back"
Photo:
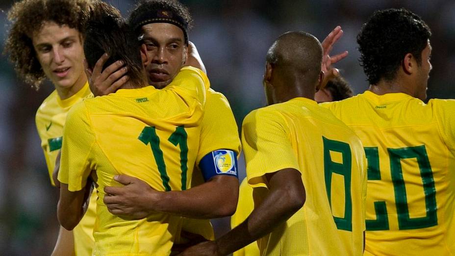
[[[254,205],[265,175],[302,173],[303,207],[258,241],[261,255],[359,256],[363,249],[366,163],[354,132],[316,102],[295,98],[251,112],[242,126],[247,178]],[[279,203],[279,202],[277,202]]]

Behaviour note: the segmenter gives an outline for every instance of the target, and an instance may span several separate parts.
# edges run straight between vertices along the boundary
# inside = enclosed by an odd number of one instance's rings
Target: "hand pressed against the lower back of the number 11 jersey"
[[[143,219],[150,215],[159,192],[141,179],[116,175],[114,179],[125,186],[104,187],[104,204],[110,213],[128,218]]]

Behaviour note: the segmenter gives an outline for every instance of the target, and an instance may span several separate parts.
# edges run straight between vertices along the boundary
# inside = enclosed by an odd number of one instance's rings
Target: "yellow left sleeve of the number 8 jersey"
[[[301,171],[289,127],[278,111],[261,108],[248,114],[242,125],[242,144],[248,183],[253,187],[267,187],[263,177],[267,173],[285,168]]]

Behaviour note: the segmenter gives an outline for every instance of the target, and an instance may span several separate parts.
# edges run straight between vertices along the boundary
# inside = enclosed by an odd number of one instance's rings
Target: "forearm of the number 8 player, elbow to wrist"
[[[247,220],[215,241],[218,252],[228,255],[270,233],[297,212],[303,202],[285,188],[270,191]]]

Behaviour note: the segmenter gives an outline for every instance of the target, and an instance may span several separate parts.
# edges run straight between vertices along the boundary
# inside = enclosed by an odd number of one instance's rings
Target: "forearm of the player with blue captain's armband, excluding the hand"
[[[236,177],[218,175],[188,190],[163,192],[156,210],[195,219],[226,217],[235,212],[238,191]]]

